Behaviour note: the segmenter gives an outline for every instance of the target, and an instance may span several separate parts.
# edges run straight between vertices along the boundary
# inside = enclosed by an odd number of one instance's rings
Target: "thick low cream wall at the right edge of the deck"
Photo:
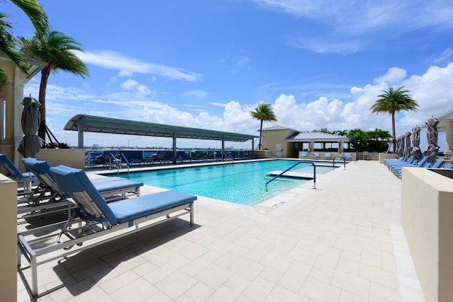
[[[426,301],[453,297],[453,171],[403,168],[401,223]]]

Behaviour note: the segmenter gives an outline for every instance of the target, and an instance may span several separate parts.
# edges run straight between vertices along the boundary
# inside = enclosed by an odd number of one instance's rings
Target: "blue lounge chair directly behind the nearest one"
[[[55,179],[50,174],[50,165],[47,161],[40,161],[36,158],[23,158],[25,168],[35,175],[40,181],[40,185],[33,191],[33,194],[28,198],[18,199],[18,214],[32,212],[38,214],[37,211],[56,211],[65,209],[68,204],[62,202],[67,196],[59,189]],[[68,168],[65,165],[59,166],[62,169]],[[96,190],[105,198],[124,199],[126,194],[140,194],[140,187],[143,182],[127,180],[125,178],[95,178],[91,180]],[[120,195],[120,197],[117,197]]]

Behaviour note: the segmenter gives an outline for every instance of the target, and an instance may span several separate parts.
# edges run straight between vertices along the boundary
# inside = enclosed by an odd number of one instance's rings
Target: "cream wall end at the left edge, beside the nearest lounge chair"
[[[0,174],[0,301],[17,300],[17,182]]]

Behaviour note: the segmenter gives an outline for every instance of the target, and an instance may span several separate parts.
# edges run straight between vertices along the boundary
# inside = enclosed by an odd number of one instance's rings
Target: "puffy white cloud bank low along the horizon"
[[[392,79],[392,81],[397,79],[401,82],[401,86],[405,86],[408,91],[411,91],[411,95],[420,105],[417,112],[401,112],[398,115],[397,135],[412,129],[416,124],[423,125],[428,117],[440,116],[453,109],[453,63],[445,67],[431,66],[424,74],[412,75],[406,79],[401,79],[403,74],[405,74],[403,69],[395,68],[389,69],[386,74],[376,78]],[[365,131],[374,128],[390,131],[390,115],[376,115],[369,110],[377,100],[377,95],[390,87],[386,81],[377,82],[350,88],[348,102],[322,95],[314,100],[303,102],[294,95],[281,93],[274,101],[270,102],[273,105],[278,122],[267,122],[265,127],[280,124],[300,131],[321,128],[327,128],[330,131],[355,128]],[[91,95],[73,88],[47,86],[47,119],[51,122],[52,127],[57,128],[57,132],[64,127],[70,117],[81,112],[88,115],[114,116],[129,120],[176,124],[243,134],[257,134],[259,129],[259,121],[253,120],[250,116],[250,110],[256,108],[257,104],[244,105],[235,100],[231,100],[229,103],[210,103],[210,105],[215,105],[216,108],[223,107],[222,114],[214,115],[210,112],[209,107],[205,107],[201,112],[197,112],[197,115],[194,115],[191,113],[194,110],[174,108],[161,103],[159,100],[138,95],[134,89],[141,86],[136,81],[125,81],[124,85],[132,90],[106,95]],[[38,95],[38,88],[38,81],[30,81],[25,86],[24,93]],[[68,100],[74,101],[68,102]],[[62,132],[62,134],[64,134],[64,140],[69,144],[76,144],[76,133]],[[142,138],[142,146],[154,146],[154,143],[146,143],[147,140],[159,141],[156,138]],[[86,144],[111,146],[112,141],[115,141],[115,139],[110,136],[106,137],[104,142],[98,140],[86,141]],[[159,144],[161,144],[161,141],[159,141]],[[169,146],[171,141],[165,144]],[[191,144],[191,141],[186,144]],[[197,144],[198,147],[212,146],[210,141],[202,141]]]

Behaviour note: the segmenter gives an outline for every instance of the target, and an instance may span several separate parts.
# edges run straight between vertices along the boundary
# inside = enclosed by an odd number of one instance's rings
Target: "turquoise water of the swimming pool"
[[[294,163],[296,161],[254,161],[150,170],[120,176],[144,182],[146,185],[253,206],[306,181],[298,178],[277,178],[270,182],[266,191],[265,183],[272,178],[266,173],[286,170]],[[316,174],[331,170],[332,167],[317,166]],[[313,175],[313,166],[302,163],[292,171]]]

